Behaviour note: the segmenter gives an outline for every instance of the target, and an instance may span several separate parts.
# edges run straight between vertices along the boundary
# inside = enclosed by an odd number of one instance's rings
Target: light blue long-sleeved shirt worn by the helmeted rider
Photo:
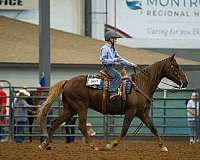
[[[117,59],[120,59],[119,62],[116,62]],[[100,55],[100,61],[104,65],[119,65],[123,64],[126,67],[134,66],[134,63],[130,63],[128,60],[122,58],[117,54],[117,52],[114,50],[112,45],[106,43],[104,46],[101,47],[101,55]]]

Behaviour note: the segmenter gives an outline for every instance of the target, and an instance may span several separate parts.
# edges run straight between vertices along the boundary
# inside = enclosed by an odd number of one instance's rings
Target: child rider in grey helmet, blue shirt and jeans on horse
[[[137,67],[136,64],[131,63],[120,57],[115,50],[115,42],[117,38],[121,38],[116,32],[107,31],[105,34],[106,43],[101,47],[100,60],[105,66],[108,74],[113,77],[110,85],[110,100],[114,100],[117,95],[117,89],[121,82],[120,65],[126,67]]]

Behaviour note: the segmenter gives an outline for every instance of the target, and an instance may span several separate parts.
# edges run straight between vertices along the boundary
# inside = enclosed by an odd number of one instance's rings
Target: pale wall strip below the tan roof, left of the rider
[[[81,74],[95,73],[94,68],[52,68],[51,85],[63,79],[70,79]],[[37,67],[6,67],[0,70],[0,80],[8,80],[13,86],[39,86],[39,70]]]

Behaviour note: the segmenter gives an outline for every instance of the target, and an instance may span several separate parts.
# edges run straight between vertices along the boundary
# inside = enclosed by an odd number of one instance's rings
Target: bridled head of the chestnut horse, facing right
[[[165,77],[178,84],[180,88],[185,88],[188,85],[187,77],[180,69],[174,56],[175,54],[166,59],[166,64],[164,66]]]

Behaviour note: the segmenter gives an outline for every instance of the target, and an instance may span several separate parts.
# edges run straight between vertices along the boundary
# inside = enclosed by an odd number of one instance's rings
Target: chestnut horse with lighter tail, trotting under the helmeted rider
[[[125,117],[120,137],[111,141],[111,143],[107,144],[106,147],[102,150],[111,150],[117,146],[126,135],[133,118],[137,116],[157,137],[161,151],[168,151],[167,147],[161,140],[161,137],[158,135],[153,121],[149,117],[151,104],[149,99],[152,99],[158,84],[164,77],[175,82],[180,86],[180,88],[186,87],[188,85],[187,78],[179,68],[174,55],[156,62],[146,67],[143,72],[139,72],[134,75],[134,81],[140,92],[132,89],[131,93],[127,95],[125,111],[121,110],[121,103],[115,103],[114,106],[110,107],[109,114],[124,114]],[[47,149],[54,131],[58,128],[59,125],[69,120],[69,118],[75,114],[78,114],[80,131],[85,136],[86,141],[91,144],[91,138],[89,137],[86,130],[87,108],[89,106],[91,109],[98,112],[102,111],[102,90],[87,88],[85,83],[86,76],[80,75],[70,80],[59,81],[51,87],[49,95],[38,115],[40,126],[43,131],[46,132],[47,113],[53,101],[60,95],[60,93],[62,93],[62,101],[64,105],[63,114],[52,122],[46,139],[41,145],[39,145],[40,149]],[[109,103],[112,105],[114,102]],[[101,150],[98,147],[94,147],[92,144],[91,147],[94,150]]]

